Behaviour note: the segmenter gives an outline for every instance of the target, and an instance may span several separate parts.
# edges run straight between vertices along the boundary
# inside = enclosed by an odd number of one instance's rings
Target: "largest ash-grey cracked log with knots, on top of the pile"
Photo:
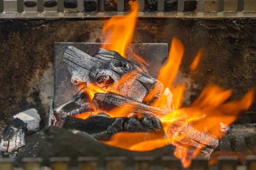
[[[163,84],[115,51],[100,48],[93,57],[69,45],[63,56],[75,85],[100,87],[151,105],[160,98]]]

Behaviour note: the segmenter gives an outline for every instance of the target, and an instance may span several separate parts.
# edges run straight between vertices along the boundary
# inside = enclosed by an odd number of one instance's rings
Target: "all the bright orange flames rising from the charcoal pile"
[[[137,2],[130,1],[129,3],[132,6],[130,14],[125,17],[112,17],[104,23],[103,28],[106,43],[102,45],[102,48],[117,51],[123,57],[125,57],[125,51],[133,39],[138,13]],[[111,34],[108,35],[108,31],[110,31]],[[190,65],[192,72],[196,70],[202,51],[203,49],[201,48]],[[172,84],[180,67],[183,53],[184,45],[180,40],[174,37],[169,50],[168,61],[160,69],[158,76],[158,80],[164,85],[165,92],[162,94],[161,99],[154,103],[154,106],[164,108],[165,105],[173,105],[174,108],[173,112],[160,119],[168,137],[157,133],[122,132],[114,134],[109,141],[102,142],[136,151],[148,151],[173,144],[176,146],[174,155],[181,160],[184,167],[188,167],[191,163],[191,159],[196,157],[204,146],[209,144],[212,139],[220,139],[225,134],[225,131],[222,130],[223,127],[230,125],[237,119],[241,111],[245,111],[250,107],[254,98],[254,88],[248,91],[240,100],[226,102],[232,94],[231,89],[225,90],[218,85],[207,85],[198,99],[189,107],[182,108],[185,85],[180,84],[172,87]],[[139,56],[136,54],[134,54],[134,56],[147,65]],[[120,81],[117,82],[116,86],[122,88],[122,84],[127,79],[132,79],[132,76],[133,72],[125,74]],[[83,84],[80,88],[85,86],[86,85]],[[106,91],[96,85],[90,85],[90,87],[87,87],[87,90],[91,98],[93,98],[94,94],[97,92],[106,93]],[[115,92],[115,89],[108,89],[108,91]],[[172,100],[169,99],[170,96],[172,96]],[[126,110],[131,109],[131,107],[132,106],[122,106],[114,108],[109,111],[108,114],[111,117],[128,117],[129,115],[124,113]],[[89,113],[76,115],[76,117],[81,119],[86,119],[88,116],[90,116]],[[137,115],[137,117],[140,117],[140,115]],[[169,129],[174,127],[176,128],[175,132],[169,132]],[[183,132],[184,127],[189,127],[186,132]],[[201,139],[201,143],[197,143],[198,147],[195,147],[194,150],[189,148],[189,144],[180,146],[181,142],[189,140],[195,132],[199,134],[203,133],[207,135],[208,138],[205,137]]]

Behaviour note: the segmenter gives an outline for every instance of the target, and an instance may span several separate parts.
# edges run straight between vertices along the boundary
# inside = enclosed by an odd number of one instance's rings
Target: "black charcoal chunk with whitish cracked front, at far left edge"
[[[1,139],[0,150],[11,153],[14,150],[25,145],[26,126],[22,120],[16,118],[9,122],[3,132],[3,139]]]

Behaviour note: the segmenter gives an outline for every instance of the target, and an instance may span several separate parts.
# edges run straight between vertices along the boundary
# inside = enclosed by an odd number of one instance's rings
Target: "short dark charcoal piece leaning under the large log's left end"
[[[52,111],[52,125],[62,127],[67,116],[90,112],[92,110],[90,96],[86,89],[82,88],[72,100]]]

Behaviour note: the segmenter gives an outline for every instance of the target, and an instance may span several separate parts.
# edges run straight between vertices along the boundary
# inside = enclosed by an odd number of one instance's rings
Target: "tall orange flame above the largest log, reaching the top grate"
[[[133,39],[134,29],[137,22],[139,6],[137,1],[129,1],[132,10],[124,17],[115,16],[104,23],[103,34],[106,37],[102,48],[116,51],[125,57],[126,48]],[[108,35],[108,31],[111,34]]]

